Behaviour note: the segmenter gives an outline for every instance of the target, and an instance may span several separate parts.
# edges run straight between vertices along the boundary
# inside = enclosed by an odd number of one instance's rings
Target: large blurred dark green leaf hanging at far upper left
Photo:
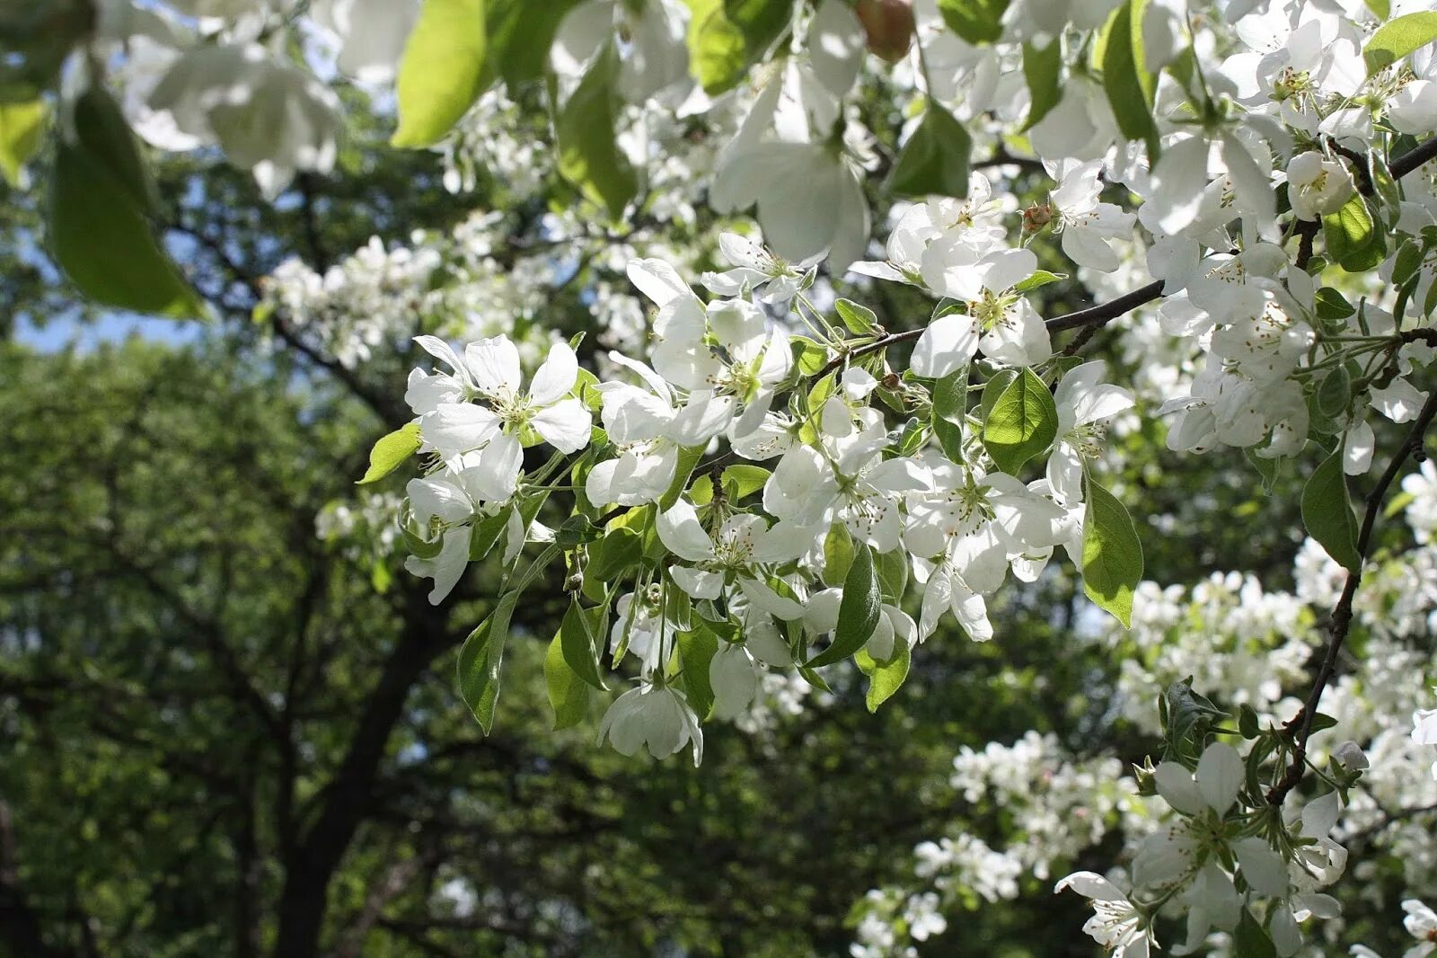
[[[103,91],[75,106],[76,141],[59,137],[50,177],[50,249],[86,298],[174,318],[204,304],[149,229],[149,178],[129,125]]]

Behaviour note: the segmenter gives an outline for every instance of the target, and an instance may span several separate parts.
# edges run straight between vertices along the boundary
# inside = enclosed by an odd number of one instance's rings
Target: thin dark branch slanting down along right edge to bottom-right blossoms
[[[1377,486],[1367,496],[1367,512],[1362,515],[1362,528],[1357,537],[1358,567],[1355,571],[1348,572],[1346,583],[1342,585],[1342,596],[1332,610],[1328,650],[1322,657],[1322,665],[1318,666],[1312,690],[1308,693],[1308,699],[1302,703],[1302,708],[1298,709],[1298,713],[1292,716],[1292,721],[1283,725],[1283,729],[1292,735],[1292,762],[1288,765],[1288,771],[1282,780],[1267,790],[1267,804],[1280,806],[1288,793],[1296,788],[1298,783],[1306,774],[1308,738],[1312,735],[1312,722],[1318,715],[1322,692],[1328,688],[1328,682],[1332,680],[1332,675],[1336,672],[1342,643],[1352,627],[1352,601],[1357,598],[1357,588],[1362,583],[1362,564],[1367,561],[1372,545],[1372,529],[1377,526],[1377,516],[1382,511],[1382,501],[1387,498],[1387,491],[1397,480],[1397,475],[1407,463],[1407,457],[1421,457],[1427,429],[1431,426],[1434,417],[1437,417],[1437,390],[1433,390],[1431,396],[1427,397],[1427,403],[1413,421],[1413,429],[1407,433],[1401,449],[1392,456],[1392,462],[1387,465],[1387,469],[1377,480]]]

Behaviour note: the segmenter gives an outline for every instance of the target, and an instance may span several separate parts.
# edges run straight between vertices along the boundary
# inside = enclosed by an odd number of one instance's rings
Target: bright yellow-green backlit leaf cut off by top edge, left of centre
[[[395,147],[438,142],[484,92],[484,0],[424,0],[404,45]]]

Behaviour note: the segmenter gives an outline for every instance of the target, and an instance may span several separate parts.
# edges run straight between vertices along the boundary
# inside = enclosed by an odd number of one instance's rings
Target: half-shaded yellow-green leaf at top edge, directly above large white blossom
[[[790,0],[688,0],[688,69],[708,95],[737,86],[793,16]]]

